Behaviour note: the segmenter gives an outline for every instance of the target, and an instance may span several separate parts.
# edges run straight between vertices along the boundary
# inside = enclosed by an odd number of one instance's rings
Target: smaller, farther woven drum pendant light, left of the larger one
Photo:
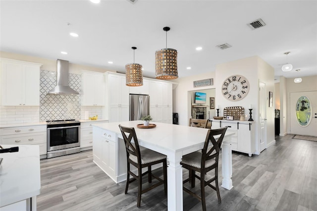
[[[134,63],[134,50],[136,50],[137,48],[132,47],[132,49],[133,63],[125,65],[125,84],[129,87],[143,86],[142,65]]]

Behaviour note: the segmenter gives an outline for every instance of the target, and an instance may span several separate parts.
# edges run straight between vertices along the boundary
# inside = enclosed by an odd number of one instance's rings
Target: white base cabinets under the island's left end
[[[116,183],[126,179],[127,164],[123,140],[105,129],[93,127],[94,162]]]

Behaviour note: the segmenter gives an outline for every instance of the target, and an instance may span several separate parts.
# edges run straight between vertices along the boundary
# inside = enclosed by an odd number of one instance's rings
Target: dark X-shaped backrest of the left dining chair
[[[138,158],[138,163],[141,163],[140,146],[134,128],[122,125],[119,125],[119,128],[124,140],[127,158],[129,159],[130,154],[134,155]]]

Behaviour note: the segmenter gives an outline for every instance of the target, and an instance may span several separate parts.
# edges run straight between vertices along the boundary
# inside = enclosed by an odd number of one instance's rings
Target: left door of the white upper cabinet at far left
[[[22,64],[1,62],[1,105],[22,106]]]

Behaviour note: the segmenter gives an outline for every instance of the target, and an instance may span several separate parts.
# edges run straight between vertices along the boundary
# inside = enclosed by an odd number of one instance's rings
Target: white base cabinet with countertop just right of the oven
[[[108,121],[98,121],[98,123],[106,123]],[[90,150],[93,146],[93,126],[95,122],[80,123],[80,150]]]

